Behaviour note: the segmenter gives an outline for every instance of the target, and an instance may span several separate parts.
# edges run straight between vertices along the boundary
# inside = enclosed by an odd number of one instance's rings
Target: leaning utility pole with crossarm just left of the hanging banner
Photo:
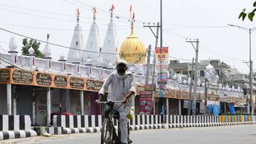
[[[156,45],[155,48],[157,48],[158,45],[158,38],[159,38],[159,22],[157,22],[157,26],[144,26],[149,27],[151,32],[153,33],[154,37],[156,38]],[[154,31],[152,31],[152,28],[156,27],[156,35],[154,34]],[[156,75],[156,54],[154,52],[154,60],[153,60],[153,74],[152,74],[152,84],[155,84],[155,75]],[[156,108],[155,108],[155,101],[154,101],[154,93],[152,94],[152,100],[153,100],[153,114],[156,114]]]

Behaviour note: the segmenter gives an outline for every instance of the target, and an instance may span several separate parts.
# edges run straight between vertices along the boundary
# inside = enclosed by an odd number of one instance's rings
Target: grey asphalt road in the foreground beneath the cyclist
[[[135,144],[161,143],[255,143],[256,125],[219,126],[206,128],[172,128],[160,130],[132,131]],[[54,135],[50,138],[36,137],[20,140],[4,140],[0,143],[30,144],[99,144],[100,133],[82,133],[72,135]]]

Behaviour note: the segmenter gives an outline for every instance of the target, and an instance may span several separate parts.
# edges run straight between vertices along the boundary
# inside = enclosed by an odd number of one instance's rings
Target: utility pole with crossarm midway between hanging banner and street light
[[[193,84],[193,110],[192,114],[196,116],[196,83],[197,83],[197,70],[198,70],[198,43],[199,40],[186,40],[186,42],[191,43],[193,49],[196,50],[196,65],[195,65],[195,73],[194,73],[194,84]],[[196,43],[196,48],[194,47],[193,43]]]

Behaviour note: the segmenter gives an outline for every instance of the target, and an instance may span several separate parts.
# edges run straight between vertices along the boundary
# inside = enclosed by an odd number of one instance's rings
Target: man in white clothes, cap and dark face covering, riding
[[[132,72],[127,72],[127,62],[125,60],[117,62],[117,72],[112,72],[107,77],[96,102],[100,102],[106,90],[108,90],[107,101],[122,101],[122,104],[115,103],[113,109],[119,112],[121,143],[127,143],[127,115],[132,106],[132,99],[129,98],[135,93],[135,89],[134,75]]]

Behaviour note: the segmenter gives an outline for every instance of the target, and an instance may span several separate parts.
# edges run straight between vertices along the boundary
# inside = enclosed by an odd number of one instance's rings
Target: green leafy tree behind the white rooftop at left
[[[22,44],[23,44],[23,47],[21,50],[22,55],[28,55],[29,54],[28,49],[32,47],[33,50],[35,51],[36,57],[44,57],[45,56],[45,55],[43,55],[43,52],[41,52],[39,50],[39,47],[41,45],[40,42],[37,42],[34,39],[28,40],[28,38],[24,38]]]

